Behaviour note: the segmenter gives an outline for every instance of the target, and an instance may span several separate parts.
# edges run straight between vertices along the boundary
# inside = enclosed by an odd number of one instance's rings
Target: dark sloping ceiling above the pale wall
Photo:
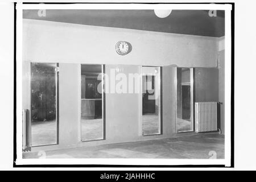
[[[102,27],[129,28],[174,34],[221,37],[225,34],[224,11],[210,17],[208,10],[172,10],[167,18],[158,18],[154,10],[23,10],[23,18]]]

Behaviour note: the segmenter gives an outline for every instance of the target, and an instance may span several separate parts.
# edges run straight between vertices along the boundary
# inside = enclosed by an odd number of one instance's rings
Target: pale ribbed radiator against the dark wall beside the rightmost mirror
[[[196,133],[218,130],[218,102],[195,102]]]

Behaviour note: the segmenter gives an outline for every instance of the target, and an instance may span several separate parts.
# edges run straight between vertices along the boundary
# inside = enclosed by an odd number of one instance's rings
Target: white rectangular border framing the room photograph
[[[225,10],[225,159],[22,159],[22,11],[26,9],[172,9]],[[231,4],[132,4],[132,3],[16,3],[16,160],[15,165],[225,165],[231,166],[232,30]],[[136,167],[136,166],[134,166]],[[149,166],[150,167],[150,166]]]

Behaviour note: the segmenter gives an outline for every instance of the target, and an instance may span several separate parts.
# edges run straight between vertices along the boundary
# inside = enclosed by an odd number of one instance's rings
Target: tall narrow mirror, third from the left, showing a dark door
[[[160,134],[160,67],[142,67],[142,135]]]

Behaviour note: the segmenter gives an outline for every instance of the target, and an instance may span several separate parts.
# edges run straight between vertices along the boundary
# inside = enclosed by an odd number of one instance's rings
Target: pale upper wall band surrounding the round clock
[[[126,56],[115,52],[130,42]],[[23,19],[23,60],[36,62],[217,67],[218,39]]]

